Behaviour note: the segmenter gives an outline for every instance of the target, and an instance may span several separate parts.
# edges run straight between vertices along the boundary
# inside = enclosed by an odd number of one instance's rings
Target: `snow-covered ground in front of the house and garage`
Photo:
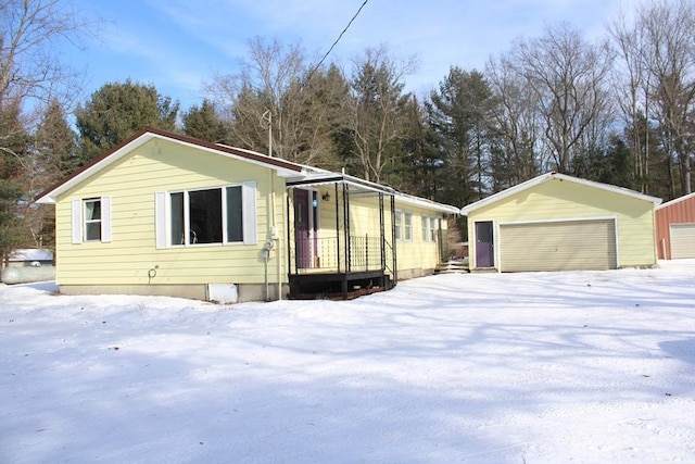
[[[0,286],[0,462],[695,462],[695,262],[664,264],[232,306]]]

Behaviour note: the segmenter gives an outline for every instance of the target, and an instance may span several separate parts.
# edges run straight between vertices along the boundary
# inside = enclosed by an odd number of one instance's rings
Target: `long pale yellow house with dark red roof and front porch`
[[[64,293],[222,302],[361,294],[431,273],[458,209],[146,129],[39,195]],[[426,234],[427,230],[427,234]]]

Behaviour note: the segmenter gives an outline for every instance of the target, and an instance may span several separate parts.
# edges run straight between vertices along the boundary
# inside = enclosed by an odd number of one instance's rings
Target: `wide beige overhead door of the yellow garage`
[[[500,226],[502,272],[615,269],[614,220]]]

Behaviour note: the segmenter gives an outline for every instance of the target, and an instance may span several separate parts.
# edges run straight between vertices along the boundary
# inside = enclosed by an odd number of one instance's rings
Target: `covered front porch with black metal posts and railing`
[[[345,174],[287,183],[292,299],[350,299],[397,283],[394,191]]]

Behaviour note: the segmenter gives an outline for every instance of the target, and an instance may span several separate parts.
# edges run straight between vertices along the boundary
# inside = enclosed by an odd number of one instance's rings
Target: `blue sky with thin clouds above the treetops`
[[[83,98],[127,78],[200,104],[214,73],[236,73],[253,37],[301,41],[308,57],[328,51],[364,0],[74,0],[99,21],[87,49],[67,59],[85,67]],[[629,4],[629,3],[628,3]],[[632,8],[632,7],[630,7]],[[604,34],[619,0],[369,0],[327,61],[348,64],[369,47],[416,55],[408,90],[434,88],[452,65],[482,70],[515,38],[542,35],[568,22],[587,38]]]

